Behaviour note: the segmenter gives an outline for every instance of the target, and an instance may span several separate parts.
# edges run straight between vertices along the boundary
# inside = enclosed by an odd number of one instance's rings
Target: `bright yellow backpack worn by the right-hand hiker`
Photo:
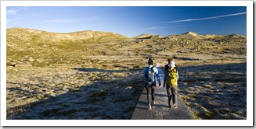
[[[170,85],[171,87],[177,85],[178,80],[177,80],[177,70],[171,68],[168,68],[167,71],[167,77],[166,77],[166,84]]]

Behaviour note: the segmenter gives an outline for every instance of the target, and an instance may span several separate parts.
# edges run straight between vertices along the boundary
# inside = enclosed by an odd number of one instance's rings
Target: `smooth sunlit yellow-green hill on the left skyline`
[[[7,29],[8,51],[44,52],[44,47],[56,47],[57,49],[78,49],[85,44],[103,43],[115,40],[124,40],[128,37],[115,33],[99,31],[81,31],[74,33],[50,33],[40,30],[23,28]],[[69,51],[70,51],[69,50]],[[9,54],[9,53],[8,53]]]

